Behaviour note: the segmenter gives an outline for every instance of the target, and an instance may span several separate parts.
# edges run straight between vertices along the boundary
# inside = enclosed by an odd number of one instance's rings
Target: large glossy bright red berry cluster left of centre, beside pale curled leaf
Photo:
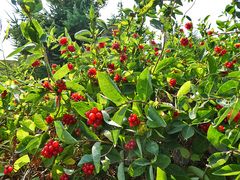
[[[96,107],[92,108],[90,111],[85,113],[88,118],[87,124],[92,125],[94,128],[101,126],[103,123],[102,112],[99,111]]]

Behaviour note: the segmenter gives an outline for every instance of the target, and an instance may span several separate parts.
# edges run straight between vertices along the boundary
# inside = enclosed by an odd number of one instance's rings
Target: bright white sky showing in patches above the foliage
[[[42,0],[44,4],[46,4],[46,0]],[[103,20],[106,20],[111,15],[117,12],[117,4],[118,2],[123,3],[124,8],[132,8],[134,5],[134,0],[108,0],[108,4],[101,10],[101,16]],[[11,42],[5,41],[2,43],[4,37],[4,31],[8,25],[8,15],[11,14],[13,8],[10,5],[10,0],[1,0],[0,6],[0,14],[2,20],[2,31],[0,34],[0,48],[4,50],[5,56],[8,55],[13,47],[11,46]],[[203,18],[207,15],[211,15],[209,21],[212,22],[212,26],[216,27],[215,21],[218,19],[218,16],[224,10],[225,6],[229,4],[231,0],[196,0],[193,8],[188,12],[188,15],[192,18],[193,24],[197,24],[198,19]],[[184,6],[181,8],[182,12],[186,12],[192,6],[192,2],[185,2]],[[2,59],[2,53],[0,52],[0,59]]]

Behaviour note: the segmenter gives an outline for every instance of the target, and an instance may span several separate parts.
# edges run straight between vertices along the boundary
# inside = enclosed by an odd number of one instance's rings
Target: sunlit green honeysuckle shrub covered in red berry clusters
[[[3,179],[240,178],[239,3],[219,30],[208,17],[178,24],[181,1],[123,9],[112,27],[91,8],[74,39],[31,18],[41,2],[19,4],[29,43],[9,57],[28,55],[1,77]],[[49,64],[45,47],[66,63]]]

